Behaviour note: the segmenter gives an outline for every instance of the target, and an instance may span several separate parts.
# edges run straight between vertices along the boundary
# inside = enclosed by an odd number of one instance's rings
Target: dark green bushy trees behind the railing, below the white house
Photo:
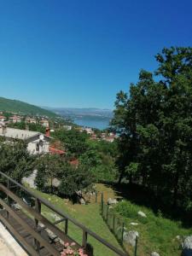
[[[87,189],[93,182],[86,166],[72,166],[64,157],[53,154],[42,155],[36,161],[38,189],[51,194],[67,196],[75,200],[79,190]],[[55,183],[54,183],[55,180]]]

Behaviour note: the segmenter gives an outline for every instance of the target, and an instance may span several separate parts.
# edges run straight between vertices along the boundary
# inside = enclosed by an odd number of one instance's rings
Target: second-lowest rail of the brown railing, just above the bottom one
[[[6,211],[9,212],[9,214],[15,218],[15,220],[23,226],[23,228],[32,234],[34,238],[36,238],[42,245],[44,245],[45,248],[49,250],[51,254],[54,256],[60,256],[60,253],[55,249],[55,247],[51,247],[48,241],[44,240],[42,236],[38,234],[38,232],[34,229],[32,229],[32,226],[29,224],[26,224],[25,220],[20,218],[17,212],[15,212],[11,207],[9,207],[2,199],[0,199],[0,204],[6,209]]]

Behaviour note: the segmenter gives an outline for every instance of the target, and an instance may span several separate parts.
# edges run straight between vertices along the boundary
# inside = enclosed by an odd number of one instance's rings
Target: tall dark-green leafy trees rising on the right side
[[[143,183],[167,204],[192,209],[192,48],[163,49],[154,73],[142,70],[120,91],[113,128],[119,133],[119,182]]]

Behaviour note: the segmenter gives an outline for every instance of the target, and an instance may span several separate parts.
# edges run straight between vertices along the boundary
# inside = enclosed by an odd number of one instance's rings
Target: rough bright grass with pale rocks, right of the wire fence
[[[163,218],[161,212],[158,216],[147,207],[137,206],[130,201],[120,202],[116,207],[124,219],[127,230],[137,230],[138,255],[150,255],[152,252],[160,253],[160,256],[180,256],[181,242],[183,236],[189,236],[192,229],[183,228],[181,222],[176,222],[168,218]],[[147,218],[139,217],[137,212],[142,211]],[[136,222],[137,226],[132,226],[131,222]],[[176,236],[180,236],[178,241]]]

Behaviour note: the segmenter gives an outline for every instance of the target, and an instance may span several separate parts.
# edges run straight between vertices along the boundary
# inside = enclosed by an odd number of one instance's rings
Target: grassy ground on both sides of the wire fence
[[[113,198],[115,195],[115,191],[113,191],[113,189],[103,184],[97,184],[96,187],[100,192],[104,192],[105,201],[107,201],[108,197]],[[78,204],[72,205],[70,202],[64,201],[55,195],[46,195],[38,191],[37,193],[51,201],[55,206],[60,207],[73,218],[78,219],[79,222],[88,226],[91,230],[111,242],[114,246],[119,247],[118,242],[108,230],[108,226],[103,222],[102,217],[100,216],[98,204],[91,203],[87,206],[81,206]],[[159,216],[156,216],[149,208],[135,205],[130,201],[125,201],[125,205],[124,215],[129,217],[119,216],[119,218],[122,218],[125,222],[127,230],[137,230],[139,233],[137,255],[149,256],[150,253],[154,251],[160,253],[160,256],[181,255],[181,241],[177,241],[176,236],[181,236],[181,238],[183,236],[189,236],[192,233],[192,228],[184,228],[181,222],[163,218],[160,214]],[[147,218],[139,218],[137,215],[138,211],[145,212]],[[43,212],[47,217],[51,218],[48,209],[43,207]],[[138,225],[132,226],[130,224],[131,222],[137,222]],[[73,225],[69,227],[69,234],[77,241],[81,242],[81,232],[79,232],[79,230],[77,230]],[[101,244],[96,243],[96,241],[90,242],[97,248],[96,256],[113,255],[113,253],[110,253],[102,247]],[[128,248],[128,251],[133,255],[131,247]]]

